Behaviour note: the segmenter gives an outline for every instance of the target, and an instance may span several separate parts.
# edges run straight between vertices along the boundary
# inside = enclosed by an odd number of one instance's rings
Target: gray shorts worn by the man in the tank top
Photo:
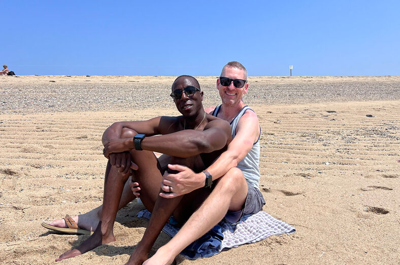
[[[228,211],[225,215],[225,220],[231,224],[238,223],[244,215],[258,213],[265,204],[264,197],[256,187],[250,183],[247,183],[247,187],[247,197],[243,209],[236,212]]]

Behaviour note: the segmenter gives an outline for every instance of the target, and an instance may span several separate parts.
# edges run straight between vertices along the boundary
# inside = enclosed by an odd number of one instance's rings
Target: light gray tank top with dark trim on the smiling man
[[[214,109],[214,111],[212,112],[213,116],[217,116],[220,107],[221,105],[217,106]],[[254,110],[249,108],[249,106],[244,106],[236,115],[236,117],[230,122],[232,138],[235,138],[236,126],[238,125],[240,118],[247,110],[251,110],[254,112]],[[256,187],[257,189],[258,189],[258,183],[260,181],[260,170],[258,169],[258,164],[260,160],[260,142],[259,142],[260,136],[261,136],[261,127],[260,127],[260,135],[258,135],[257,141],[253,143],[253,147],[250,149],[249,153],[247,153],[247,155],[242,159],[242,161],[240,161],[236,166],[237,168],[240,168],[242,170],[246,181],[251,185],[253,185],[254,187]]]

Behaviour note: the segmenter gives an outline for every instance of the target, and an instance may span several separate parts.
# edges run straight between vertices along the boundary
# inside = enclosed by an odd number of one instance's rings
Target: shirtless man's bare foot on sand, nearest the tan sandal
[[[66,258],[73,258],[73,257],[76,257],[83,253],[86,253],[89,250],[92,250],[103,244],[114,242],[115,241],[114,234],[111,232],[111,234],[109,234],[109,235],[102,235],[101,226],[102,226],[102,222],[98,222],[97,228],[94,231],[94,233],[90,236],[90,238],[85,240],[76,249],[71,249],[71,250],[66,251],[65,253],[61,254],[61,256],[56,258],[55,261],[60,261],[60,260],[66,259]]]

